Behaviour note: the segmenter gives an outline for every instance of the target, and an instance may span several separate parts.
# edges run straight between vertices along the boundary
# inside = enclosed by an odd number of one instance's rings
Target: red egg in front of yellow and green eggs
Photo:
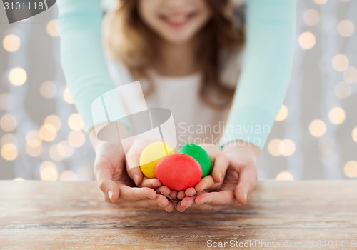
[[[202,169],[198,161],[186,154],[172,154],[159,161],[156,178],[172,190],[186,190],[201,180]]]

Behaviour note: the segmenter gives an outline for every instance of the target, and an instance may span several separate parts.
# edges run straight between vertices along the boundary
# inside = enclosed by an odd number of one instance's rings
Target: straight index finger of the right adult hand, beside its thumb
[[[231,190],[198,194],[195,204],[210,204],[212,206],[229,206],[233,203],[234,193]]]

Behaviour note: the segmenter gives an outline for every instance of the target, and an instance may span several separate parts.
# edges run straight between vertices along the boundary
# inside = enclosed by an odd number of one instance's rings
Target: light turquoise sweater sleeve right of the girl
[[[263,149],[290,81],[296,0],[246,1],[246,49],[221,146],[246,141]]]

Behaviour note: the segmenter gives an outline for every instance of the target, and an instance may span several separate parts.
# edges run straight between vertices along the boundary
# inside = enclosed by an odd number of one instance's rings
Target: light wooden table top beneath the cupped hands
[[[260,181],[246,206],[213,214],[118,209],[93,182],[0,181],[0,249],[208,249],[224,242],[357,249],[357,181]]]

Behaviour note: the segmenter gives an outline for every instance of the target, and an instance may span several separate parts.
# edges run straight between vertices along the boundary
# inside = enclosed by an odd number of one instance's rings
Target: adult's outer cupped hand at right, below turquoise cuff
[[[248,194],[253,190],[257,177],[256,157],[259,149],[256,146],[239,143],[224,146],[223,153],[229,161],[226,178],[218,191],[205,192],[198,196],[184,197],[176,209],[198,209],[218,211],[232,206],[246,204]]]

